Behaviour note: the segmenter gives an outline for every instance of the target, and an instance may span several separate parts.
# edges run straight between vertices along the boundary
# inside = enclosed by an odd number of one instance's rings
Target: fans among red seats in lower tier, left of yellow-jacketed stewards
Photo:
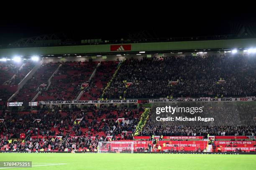
[[[16,144],[17,149],[26,150],[30,143],[33,147],[38,143],[44,149],[51,145],[51,150],[65,150],[75,143],[77,149],[93,151],[98,141],[108,140],[107,136],[111,136],[111,140],[132,140],[142,111],[143,108],[116,106],[84,107],[84,110],[77,107],[43,107],[33,113],[6,110],[0,113],[0,118],[4,119],[0,123],[0,147],[6,147],[12,135],[25,133],[28,138],[24,141],[16,139],[8,147],[12,148]],[[117,121],[118,118],[124,118],[125,121]],[[55,139],[59,136],[62,136],[61,140]],[[55,140],[50,140],[52,138]]]

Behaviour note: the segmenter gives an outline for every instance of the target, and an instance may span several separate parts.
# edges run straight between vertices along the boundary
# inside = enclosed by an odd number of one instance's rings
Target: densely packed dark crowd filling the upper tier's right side
[[[254,96],[255,68],[254,55],[130,59],[121,65],[105,97]]]

